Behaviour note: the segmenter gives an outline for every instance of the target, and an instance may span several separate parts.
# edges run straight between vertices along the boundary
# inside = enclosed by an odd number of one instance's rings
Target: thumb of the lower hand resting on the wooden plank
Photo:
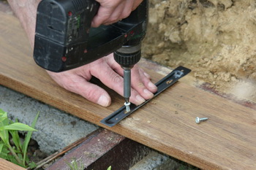
[[[108,93],[99,88],[99,86],[88,82],[85,77],[80,77],[77,72],[81,72],[81,69],[83,68],[61,73],[48,72],[48,74],[66,90],[77,93],[102,107],[108,107],[111,104],[111,98]]]

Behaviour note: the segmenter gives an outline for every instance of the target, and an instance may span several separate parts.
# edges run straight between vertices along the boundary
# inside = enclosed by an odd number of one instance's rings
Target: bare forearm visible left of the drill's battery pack
[[[41,0],[7,0],[15,15],[29,37],[31,47],[34,47],[34,32],[36,27],[37,5]]]

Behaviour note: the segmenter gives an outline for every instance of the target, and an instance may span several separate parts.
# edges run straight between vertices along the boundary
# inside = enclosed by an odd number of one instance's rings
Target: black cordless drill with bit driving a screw
[[[146,35],[148,0],[128,18],[91,28],[99,3],[94,0],[42,0],[37,7],[34,60],[44,69],[63,72],[114,53],[124,69],[124,98],[129,112],[132,66],[140,61]]]

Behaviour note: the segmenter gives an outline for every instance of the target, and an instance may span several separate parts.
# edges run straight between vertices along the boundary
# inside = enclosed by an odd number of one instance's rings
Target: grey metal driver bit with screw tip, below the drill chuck
[[[126,107],[126,112],[129,112],[129,97],[131,96],[131,69],[124,68],[124,106]]]

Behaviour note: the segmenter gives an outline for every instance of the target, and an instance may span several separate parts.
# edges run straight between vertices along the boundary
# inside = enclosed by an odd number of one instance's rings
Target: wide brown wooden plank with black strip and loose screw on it
[[[18,20],[0,16],[1,85],[101,126],[99,120],[124,103],[112,90],[113,104],[105,108],[59,88],[34,63]],[[148,73],[154,82],[163,77]],[[197,125],[197,116],[209,120]],[[255,125],[255,109],[178,82],[109,129],[202,169],[255,169]]]

